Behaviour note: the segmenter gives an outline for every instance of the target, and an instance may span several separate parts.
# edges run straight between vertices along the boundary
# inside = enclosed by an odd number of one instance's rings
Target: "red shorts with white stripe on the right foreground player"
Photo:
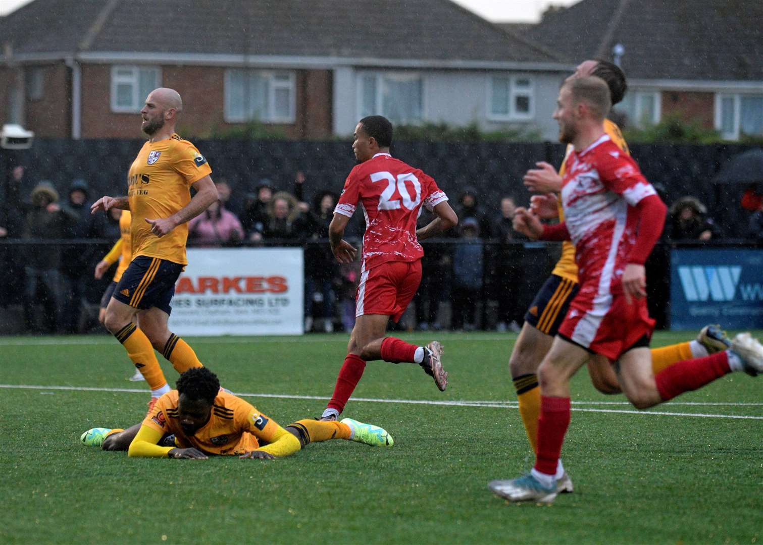
[[[645,297],[631,297],[628,304],[624,293],[594,300],[578,293],[559,326],[559,335],[615,361],[642,337],[652,338],[654,329]]]

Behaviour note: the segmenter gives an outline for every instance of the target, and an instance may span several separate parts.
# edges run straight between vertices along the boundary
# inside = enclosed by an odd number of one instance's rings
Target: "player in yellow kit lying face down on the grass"
[[[160,397],[142,424],[127,430],[92,428],[80,439],[103,450],[127,450],[130,457],[195,460],[207,460],[209,454],[272,460],[329,439],[375,447],[394,443],[385,430],[351,418],[342,422],[305,419],[282,428],[240,397],[220,390],[217,376],[206,367],[182,373],[177,390]]]

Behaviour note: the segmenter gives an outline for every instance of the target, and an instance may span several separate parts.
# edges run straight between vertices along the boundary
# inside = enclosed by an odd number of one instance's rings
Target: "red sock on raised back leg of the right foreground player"
[[[681,393],[697,390],[726,373],[731,373],[729,354],[723,351],[672,364],[657,373],[655,382],[662,401],[668,401]]]

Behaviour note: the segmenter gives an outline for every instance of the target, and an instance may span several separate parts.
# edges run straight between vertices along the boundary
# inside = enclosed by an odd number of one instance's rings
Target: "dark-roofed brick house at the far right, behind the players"
[[[761,21],[759,0],[582,0],[519,31],[571,62],[620,63],[631,123],[678,114],[739,139],[763,136]]]

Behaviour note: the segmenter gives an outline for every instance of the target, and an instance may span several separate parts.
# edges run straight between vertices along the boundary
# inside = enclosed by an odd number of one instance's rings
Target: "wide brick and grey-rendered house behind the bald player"
[[[384,114],[554,138],[571,69],[449,0],[34,0],[0,42],[0,123],[73,138],[140,136],[160,85],[194,136],[257,121],[326,139]]]

